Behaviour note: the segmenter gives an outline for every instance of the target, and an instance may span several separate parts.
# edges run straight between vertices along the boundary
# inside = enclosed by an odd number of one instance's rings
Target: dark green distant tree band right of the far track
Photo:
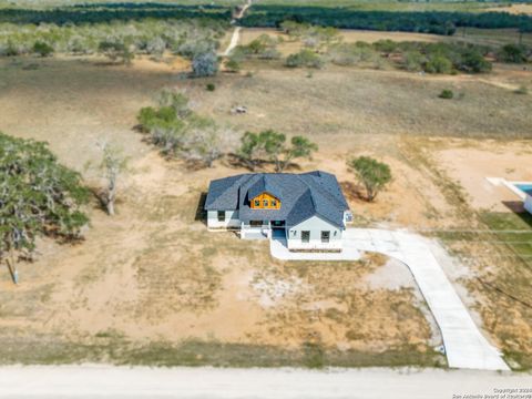
[[[238,21],[244,27],[278,28],[285,21],[339,29],[405,31],[452,35],[458,27],[532,31],[532,17],[508,12],[359,11],[330,7],[255,4]]]

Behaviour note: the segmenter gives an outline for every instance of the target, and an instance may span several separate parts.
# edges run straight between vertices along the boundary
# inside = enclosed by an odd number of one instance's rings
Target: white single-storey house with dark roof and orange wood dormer
[[[248,173],[211,182],[209,229],[236,229],[244,239],[286,238],[290,250],[341,250],[352,218],[336,177],[320,171]]]

